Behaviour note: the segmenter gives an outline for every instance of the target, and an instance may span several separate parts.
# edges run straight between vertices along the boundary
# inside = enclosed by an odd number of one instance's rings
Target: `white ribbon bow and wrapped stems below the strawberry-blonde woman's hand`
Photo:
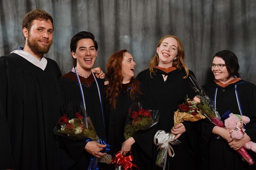
[[[157,153],[157,159],[155,164],[159,167],[165,169],[167,156],[175,156],[175,152],[172,148],[172,145],[180,144],[179,140],[174,140],[175,135],[172,133],[166,133],[164,130],[158,130],[154,136],[154,144],[158,146],[157,150],[160,149]]]

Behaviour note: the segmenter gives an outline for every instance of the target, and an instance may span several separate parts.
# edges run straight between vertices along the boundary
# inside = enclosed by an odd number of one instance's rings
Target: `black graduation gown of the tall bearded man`
[[[17,54],[0,57],[0,169],[58,170],[55,61],[43,71]]]

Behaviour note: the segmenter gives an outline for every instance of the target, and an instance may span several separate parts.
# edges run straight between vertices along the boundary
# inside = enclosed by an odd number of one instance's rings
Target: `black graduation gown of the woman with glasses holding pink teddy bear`
[[[224,88],[217,85],[215,82],[212,82],[204,85],[204,89],[209,97],[214,100],[215,90],[218,88],[216,95],[216,108],[220,115],[223,115],[228,110],[230,110],[230,113],[240,114],[236,100],[235,85],[237,85],[236,88],[243,115],[250,118],[250,123],[245,126],[245,132],[250,136],[253,142],[256,142],[256,86],[250,82],[240,80]],[[214,126],[215,125],[209,122],[204,122],[201,125],[201,169],[255,170],[256,164],[250,166],[241,160],[239,154],[228,145],[227,141],[223,138],[216,139],[215,135],[212,134]],[[247,150],[247,152],[253,160],[256,161],[256,153],[251,150]]]

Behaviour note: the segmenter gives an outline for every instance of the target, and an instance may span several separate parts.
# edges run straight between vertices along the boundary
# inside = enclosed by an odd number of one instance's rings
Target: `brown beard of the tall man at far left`
[[[33,51],[34,53],[46,54],[52,45],[52,41],[49,41],[49,40],[47,41],[49,42],[47,45],[42,45],[42,44],[39,44],[38,40],[32,39],[28,36],[27,44],[31,49],[31,51]]]

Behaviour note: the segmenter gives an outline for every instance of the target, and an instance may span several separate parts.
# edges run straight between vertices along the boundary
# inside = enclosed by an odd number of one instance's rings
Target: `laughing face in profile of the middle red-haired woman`
[[[134,58],[130,53],[125,52],[123,54],[122,61],[122,76],[123,76],[123,84],[130,82],[131,78],[134,77],[134,68],[135,68]]]

